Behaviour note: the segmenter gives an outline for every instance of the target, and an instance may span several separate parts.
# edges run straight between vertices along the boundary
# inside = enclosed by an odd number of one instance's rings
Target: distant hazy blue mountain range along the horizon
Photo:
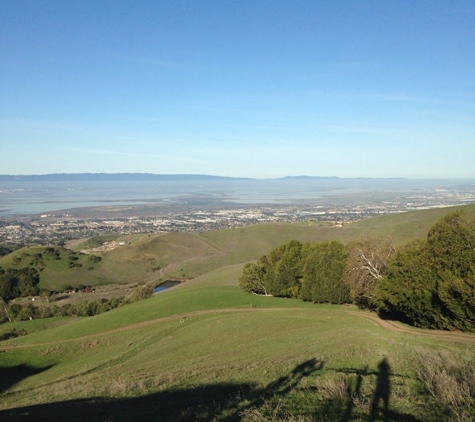
[[[287,176],[281,180],[338,179],[338,177]],[[153,173],[54,173],[31,175],[0,174],[0,182],[117,182],[117,181],[180,181],[180,180],[253,180],[249,177],[224,177],[207,174],[153,174]],[[278,179],[275,179],[278,180]]]

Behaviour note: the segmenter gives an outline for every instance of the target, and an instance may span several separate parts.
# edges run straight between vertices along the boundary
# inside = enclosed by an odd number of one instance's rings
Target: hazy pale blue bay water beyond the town
[[[192,179],[189,180],[0,180],[0,218],[72,208],[179,203],[288,205],[371,194],[391,197],[447,192],[475,195],[470,179]]]

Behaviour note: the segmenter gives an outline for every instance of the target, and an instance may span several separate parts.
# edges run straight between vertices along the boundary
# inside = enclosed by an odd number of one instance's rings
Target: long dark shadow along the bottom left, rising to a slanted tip
[[[282,400],[298,388],[304,377],[323,369],[323,361],[310,359],[295,366],[286,376],[265,387],[253,383],[218,383],[197,387],[170,389],[159,393],[121,399],[90,398],[26,406],[0,411],[2,421],[220,421],[242,419],[243,412],[259,409],[269,402]],[[335,420],[352,420],[352,409],[345,403],[328,403]],[[318,407],[318,406],[317,406]],[[311,416],[319,417],[324,407]],[[328,413],[327,413],[328,414]],[[387,420],[411,421],[390,412]],[[309,415],[310,416],[310,415]],[[266,420],[266,419],[260,419]]]

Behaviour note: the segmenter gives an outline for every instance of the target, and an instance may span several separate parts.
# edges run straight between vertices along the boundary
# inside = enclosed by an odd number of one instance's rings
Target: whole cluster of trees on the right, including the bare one
[[[475,221],[454,212],[427,238],[292,241],[246,264],[246,291],[314,303],[350,303],[419,327],[475,331]]]

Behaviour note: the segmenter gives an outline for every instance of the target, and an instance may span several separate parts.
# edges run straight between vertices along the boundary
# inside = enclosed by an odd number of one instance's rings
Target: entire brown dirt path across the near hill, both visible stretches
[[[12,350],[12,349],[27,349],[31,347],[40,347],[40,346],[51,346],[57,345],[61,343],[67,343],[69,341],[81,341],[81,340],[88,340],[95,337],[101,336],[108,336],[111,334],[120,333],[123,331],[135,330],[138,328],[148,327],[150,325],[159,324],[162,322],[168,321],[175,321],[181,320],[186,318],[197,317],[201,315],[210,315],[210,314],[225,314],[225,313],[241,313],[241,312],[273,312],[273,311],[293,311],[298,310],[298,308],[225,308],[225,309],[206,309],[202,311],[195,311],[195,312],[186,312],[183,314],[178,315],[171,315],[168,317],[156,318],[149,321],[139,322],[137,324],[127,325],[125,327],[115,328],[112,330],[101,331],[100,333],[89,334],[83,337],[76,337],[72,339],[65,339],[65,340],[58,340],[58,341],[51,341],[45,343],[34,343],[34,344],[25,344],[25,345],[12,345],[12,346],[3,346],[0,344],[0,351],[2,350]],[[347,313],[351,315],[355,315],[361,318],[364,318],[373,324],[379,325],[386,330],[395,332],[395,333],[406,333],[406,334],[413,334],[418,336],[429,337],[433,339],[440,339],[444,341],[452,341],[452,342],[459,342],[459,343],[466,343],[466,344],[474,344],[475,345],[475,334],[467,334],[458,331],[439,331],[439,330],[424,330],[419,328],[412,328],[406,325],[403,325],[399,322],[395,321],[388,321],[379,318],[377,315],[372,314],[370,312],[364,311],[347,311]]]

